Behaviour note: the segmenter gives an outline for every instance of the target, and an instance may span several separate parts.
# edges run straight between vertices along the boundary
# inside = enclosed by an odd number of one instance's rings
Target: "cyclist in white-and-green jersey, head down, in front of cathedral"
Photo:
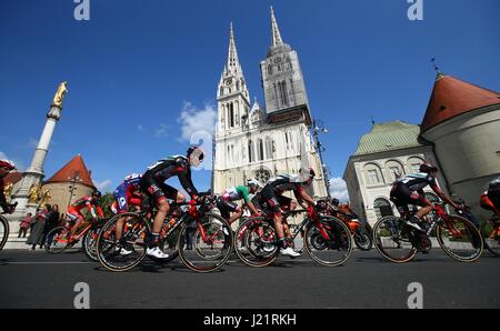
[[[220,214],[232,224],[236,220],[241,218],[243,214],[243,209],[234,203],[234,201],[243,200],[243,207],[248,207],[252,214],[259,215],[260,212],[250,201],[249,194],[254,194],[259,189],[262,188],[262,184],[256,180],[250,179],[247,182],[247,185],[233,187],[227,189],[218,199],[217,199],[217,208],[220,210]],[[231,215],[230,213],[233,212]]]

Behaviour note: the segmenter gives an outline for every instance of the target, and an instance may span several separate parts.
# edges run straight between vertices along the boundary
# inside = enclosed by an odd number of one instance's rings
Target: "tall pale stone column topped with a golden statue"
[[[44,177],[43,163],[46,162],[56,123],[61,118],[62,101],[67,93],[68,82],[63,81],[59,84],[50,110],[47,113],[46,127],[43,128],[37,150],[34,151],[31,165],[24,172],[21,187],[12,198],[12,202],[18,202],[13,218],[24,217],[27,212],[32,212],[34,214],[40,199],[41,182]]]

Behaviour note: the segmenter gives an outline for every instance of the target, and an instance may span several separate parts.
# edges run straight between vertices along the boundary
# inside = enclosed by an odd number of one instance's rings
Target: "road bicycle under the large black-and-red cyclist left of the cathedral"
[[[233,247],[231,227],[223,218],[211,213],[213,208],[214,198],[209,193],[200,194],[198,203],[170,204],[172,213],[166,218],[160,233],[160,248],[169,258],[161,259],[161,262],[169,262],[179,255],[187,268],[204,273],[218,270],[228,261]],[[97,241],[98,258],[104,268],[123,272],[142,262],[153,214],[151,209],[123,213],[104,224]],[[117,228],[122,229],[120,241],[116,240]],[[188,237],[192,249],[184,245]],[[117,249],[120,245],[131,253],[121,254]],[[158,262],[158,259],[153,260]]]

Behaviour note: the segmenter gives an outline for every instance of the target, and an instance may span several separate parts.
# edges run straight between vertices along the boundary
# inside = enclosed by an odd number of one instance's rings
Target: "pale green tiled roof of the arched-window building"
[[[354,156],[421,147],[419,134],[420,126],[401,121],[376,123],[370,133],[361,138]]]

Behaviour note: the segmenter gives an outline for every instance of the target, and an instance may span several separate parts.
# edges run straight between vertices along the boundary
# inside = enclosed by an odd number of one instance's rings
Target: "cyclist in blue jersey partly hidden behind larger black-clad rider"
[[[140,181],[142,173],[132,173],[123,179],[123,182],[114,190],[113,197],[114,202],[111,204],[111,211],[114,214],[122,214],[129,211],[129,205],[133,205],[136,210],[140,210],[142,204],[141,192],[140,192]],[[127,244],[122,244],[121,237],[123,232],[124,219],[120,218],[117,222],[116,228],[116,247],[114,251],[120,255],[129,255],[132,250],[128,249]]]

